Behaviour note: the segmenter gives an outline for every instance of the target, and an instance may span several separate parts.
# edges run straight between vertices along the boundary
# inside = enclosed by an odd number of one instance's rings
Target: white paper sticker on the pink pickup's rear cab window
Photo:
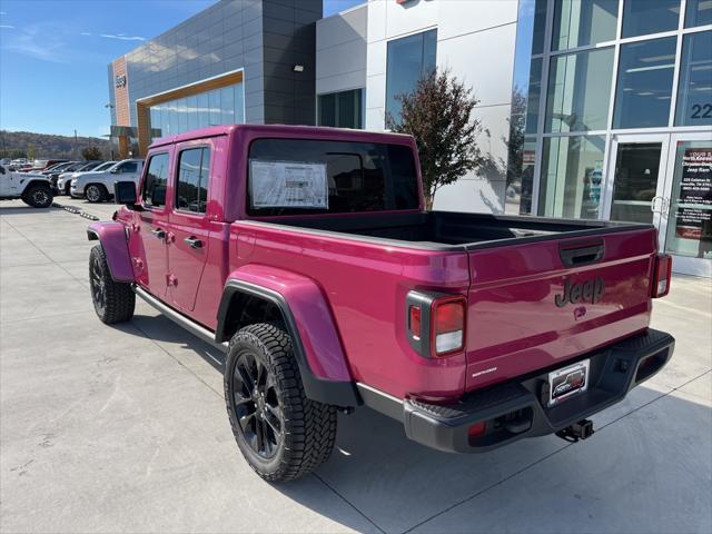
[[[326,164],[250,160],[253,208],[328,209]]]

